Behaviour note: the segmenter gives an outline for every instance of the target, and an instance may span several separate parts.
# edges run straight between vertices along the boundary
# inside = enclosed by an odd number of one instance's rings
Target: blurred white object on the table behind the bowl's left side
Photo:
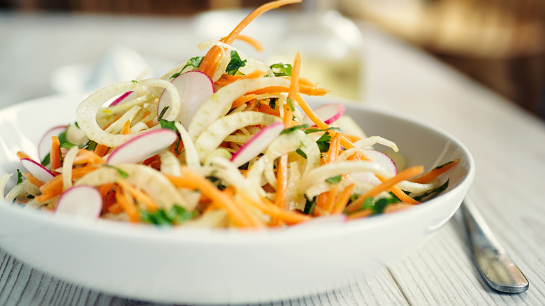
[[[89,92],[115,82],[136,80],[151,71],[138,52],[116,45],[92,64],[64,66],[52,74],[51,86],[59,93]]]

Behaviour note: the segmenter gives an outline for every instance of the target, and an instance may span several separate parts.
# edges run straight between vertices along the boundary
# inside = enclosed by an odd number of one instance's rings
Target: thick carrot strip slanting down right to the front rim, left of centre
[[[210,198],[218,207],[222,207],[226,210],[227,215],[231,222],[235,226],[240,227],[259,227],[260,224],[255,224],[252,219],[247,217],[247,214],[243,212],[243,208],[234,201],[233,198],[227,196],[221,192],[215,184],[212,184],[205,177],[194,173],[192,170],[186,167],[181,168],[182,176],[177,177],[173,175],[165,175],[170,182],[177,187],[184,187],[189,189],[199,189],[203,195]]]

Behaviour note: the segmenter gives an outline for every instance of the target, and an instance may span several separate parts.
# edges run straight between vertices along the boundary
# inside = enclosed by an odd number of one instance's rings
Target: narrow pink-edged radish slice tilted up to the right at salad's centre
[[[248,140],[238,152],[233,154],[231,161],[237,167],[244,165],[247,161],[263,152],[263,150],[265,150],[266,147],[284,131],[284,127],[282,122],[276,122],[264,127],[259,133],[256,133],[252,139]]]

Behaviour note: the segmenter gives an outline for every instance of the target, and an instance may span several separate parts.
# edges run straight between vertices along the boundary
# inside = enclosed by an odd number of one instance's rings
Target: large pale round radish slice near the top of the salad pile
[[[179,121],[187,129],[198,108],[214,94],[214,82],[201,71],[187,71],[172,80],[173,85],[180,93],[180,110],[175,121]],[[163,108],[170,107],[170,94],[163,92],[157,105],[157,115],[161,115]],[[163,117],[170,113],[166,110]]]

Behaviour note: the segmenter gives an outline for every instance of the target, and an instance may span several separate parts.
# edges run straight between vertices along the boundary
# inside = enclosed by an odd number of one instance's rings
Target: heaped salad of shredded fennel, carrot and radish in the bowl
[[[374,147],[340,103],[312,109],[323,89],[300,76],[304,59],[266,65],[231,46],[266,3],[228,36],[161,78],[97,90],[77,121],[45,133],[41,160],[0,177],[6,201],[27,209],[157,225],[266,228],[316,217],[361,219],[440,194],[459,160],[402,167]],[[40,145],[43,147],[43,145]],[[399,168],[398,168],[399,167]],[[82,199],[85,199],[82,201]]]

